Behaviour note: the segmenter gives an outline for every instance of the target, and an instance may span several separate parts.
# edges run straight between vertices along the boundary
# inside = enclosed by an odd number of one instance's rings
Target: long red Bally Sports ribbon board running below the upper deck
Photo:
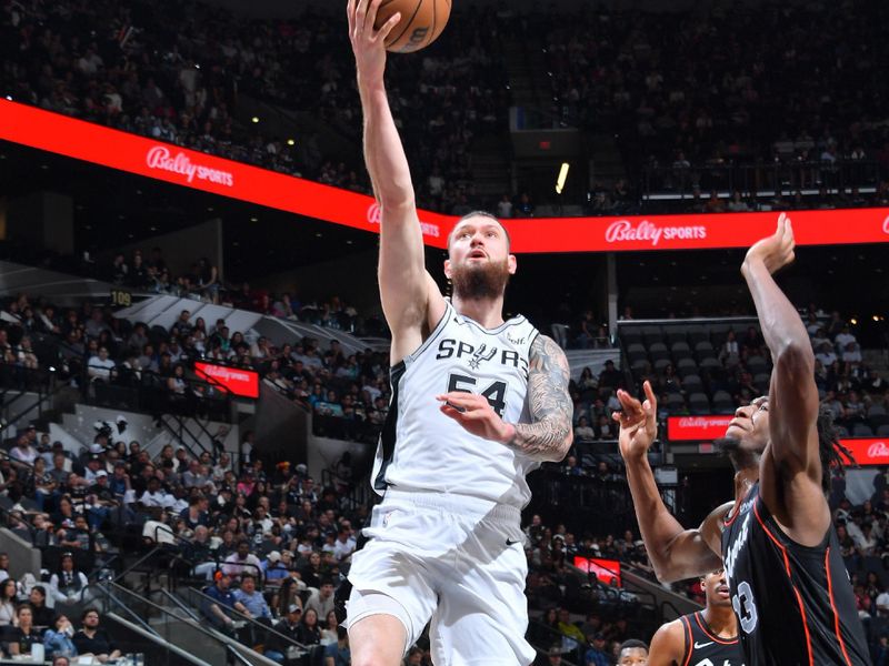
[[[0,139],[324,222],[379,232],[373,199],[0,100]],[[423,241],[444,248],[457,218],[419,211]],[[508,220],[516,253],[747,248],[778,212]],[[889,242],[889,209],[795,211],[798,245]]]

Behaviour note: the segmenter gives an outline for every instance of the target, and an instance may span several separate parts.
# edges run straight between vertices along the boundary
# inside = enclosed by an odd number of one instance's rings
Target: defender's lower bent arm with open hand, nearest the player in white
[[[648,558],[658,579],[672,583],[721,566],[719,521],[731,503],[713,511],[698,529],[686,529],[673,517],[661,500],[648,463],[648,450],[658,435],[658,402],[649,382],[643,389],[643,403],[626,391],[618,391],[623,411],[615,412],[613,417],[620,423],[620,455],[627,465],[627,482]]]

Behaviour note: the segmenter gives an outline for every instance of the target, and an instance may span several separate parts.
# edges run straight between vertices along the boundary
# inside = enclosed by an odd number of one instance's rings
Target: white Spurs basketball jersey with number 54
[[[439,410],[437,395],[488,398],[507,423],[529,423],[528,354],[538,335],[523,316],[486,330],[448,303],[413,354],[392,367],[392,398],[373,466],[373,487],[451,493],[523,507],[525,476],[539,463],[470,434]]]

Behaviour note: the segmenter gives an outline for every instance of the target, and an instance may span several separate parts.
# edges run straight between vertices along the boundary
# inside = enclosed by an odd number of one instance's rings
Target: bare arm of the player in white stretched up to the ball
[[[426,271],[410,168],[383,84],[384,41],[400,16],[374,30],[380,3],[349,0],[347,13],[364,117],[364,162],[380,205],[380,297],[397,363],[420,346],[423,330],[434,326],[446,305]]]

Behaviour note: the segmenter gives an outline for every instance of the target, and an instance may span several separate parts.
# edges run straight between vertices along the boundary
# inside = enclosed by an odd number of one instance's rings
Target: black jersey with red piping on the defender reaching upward
[[[757,484],[726,521],[722,557],[747,666],[870,664],[832,527],[818,546],[795,543]]]

